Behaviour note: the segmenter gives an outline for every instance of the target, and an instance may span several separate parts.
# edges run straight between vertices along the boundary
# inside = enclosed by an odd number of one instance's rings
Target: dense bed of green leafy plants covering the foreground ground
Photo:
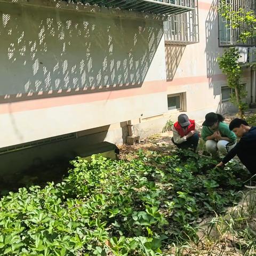
[[[2,197],[0,255],[201,255],[198,223],[215,216],[204,238],[210,246],[211,230],[229,226],[230,218],[221,222],[219,214],[241,198],[241,167],[217,170],[216,163],[167,150],[139,150],[130,161],[77,158],[62,182]],[[239,218],[234,211],[242,230],[251,208]],[[253,247],[249,238],[244,252]]]

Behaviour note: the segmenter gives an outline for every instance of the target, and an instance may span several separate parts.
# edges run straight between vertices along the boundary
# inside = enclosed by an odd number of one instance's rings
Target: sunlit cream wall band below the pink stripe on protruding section
[[[139,118],[141,114],[148,116],[161,113],[166,108],[163,98],[165,93],[154,94],[156,102],[154,108],[148,103],[152,102],[153,97],[151,94],[146,94],[142,97],[134,96],[2,114],[1,130],[8,135],[1,139],[1,146],[114,124]]]

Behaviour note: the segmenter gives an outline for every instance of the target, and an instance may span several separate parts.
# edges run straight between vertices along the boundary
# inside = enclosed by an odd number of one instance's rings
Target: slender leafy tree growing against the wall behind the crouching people
[[[238,107],[239,117],[244,118],[244,110],[247,108],[247,104],[242,101],[246,93],[243,85],[241,85],[242,67],[238,62],[239,57],[238,49],[229,47],[217,58],[217,61],[222,72],[227,75],[228,86],[233,89],[231,102]]]

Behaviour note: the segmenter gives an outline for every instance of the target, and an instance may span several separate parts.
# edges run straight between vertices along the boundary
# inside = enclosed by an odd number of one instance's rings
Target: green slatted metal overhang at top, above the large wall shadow
[[[70,0],[63,1],[70,2]],[[79,2],[88,5],[159,15],[178,14],[195,9],[195,0],[82,0]]]

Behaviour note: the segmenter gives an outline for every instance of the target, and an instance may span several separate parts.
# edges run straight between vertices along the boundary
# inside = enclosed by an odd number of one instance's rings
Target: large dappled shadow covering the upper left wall
[[[163,36],[156,20],[1,3],[0,103],[140,87]]]

